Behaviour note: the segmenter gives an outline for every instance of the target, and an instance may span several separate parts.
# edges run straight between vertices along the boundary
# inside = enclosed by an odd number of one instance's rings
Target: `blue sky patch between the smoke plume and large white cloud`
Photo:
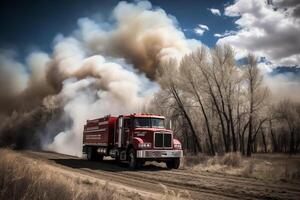
[[[230,4],[233,1],[226,0],[211,0],[211,1],[151,1],[154,5],[159,5],[167,13],[173,15],[178,20],[180,27],[183,29],[188,38],[196,38],[204,44],[212,47],[217,42],[214,33],[223,33],[226,30],[235,30],[233,18],[220,17],[212,14],[209,10],[215,8],[223,12],[224,5]],[[203,24],[209,27],[202,36],[194,32],[194,28],[198,24]]]

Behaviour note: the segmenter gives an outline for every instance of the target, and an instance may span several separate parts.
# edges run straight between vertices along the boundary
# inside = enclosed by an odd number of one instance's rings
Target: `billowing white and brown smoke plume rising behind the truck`
[[[111,19],[79,19],[52,53],[32,52],[24,63],[1,52],[1,146],[80,155],[87,119],[138,112],[158,89],[156,66],[199,44],[147,1],[120,2]]]

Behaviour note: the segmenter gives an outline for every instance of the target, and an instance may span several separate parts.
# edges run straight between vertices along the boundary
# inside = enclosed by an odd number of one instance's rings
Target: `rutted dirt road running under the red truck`
[[[113,160],[90,162],[52,152],[26,151],[23,154],[63,169],[153,194],[163,193],[168,188],[190,199],[300,199],[299,184],[263,182],[180,169],[167,170],[153,165],[146,165],[139,171],[129,171],[126,163]]]

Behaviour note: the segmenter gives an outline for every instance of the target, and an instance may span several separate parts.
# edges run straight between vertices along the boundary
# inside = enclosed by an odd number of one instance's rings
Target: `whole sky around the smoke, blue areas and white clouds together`
[[[137,2],[137,1],[129,1]],[[300,63],[300,4],[297,0],[151,0],[187,38],[208,47],[229,43],[237,59],[249,51],[267,68]],[[78,19],[110,22],[116,0],[4,0],[0,6],[0,50],[24,59],[35,50],[51,52],[53,38],[69,35]]]

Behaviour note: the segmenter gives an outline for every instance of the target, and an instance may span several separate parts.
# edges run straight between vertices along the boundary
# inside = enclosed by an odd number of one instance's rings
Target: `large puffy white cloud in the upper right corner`
[[[299,65],[300,23],[294,8],[274,7],[261,0],[237,0],[225,8],[225,15],[237,17],[239,30],[225,36],[218,44],[230,44],[241,58],[248,52],[265,57],[275,65]]]

